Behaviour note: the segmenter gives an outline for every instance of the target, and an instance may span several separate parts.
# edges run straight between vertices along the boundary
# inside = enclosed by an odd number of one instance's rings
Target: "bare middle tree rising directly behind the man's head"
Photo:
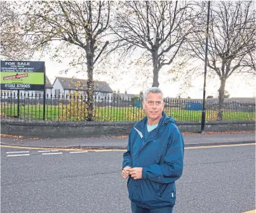
[[[159,86],[159,71],[170,65],[192,32],[196,14],[192,3],[181,1],[121,1],[112,30],[117,39],[114,50],[123,48],[121,58],[142,49],[153,65],[152,86]]]

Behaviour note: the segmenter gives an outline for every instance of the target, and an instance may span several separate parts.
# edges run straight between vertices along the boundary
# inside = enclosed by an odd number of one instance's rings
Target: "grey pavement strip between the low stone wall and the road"
[[[37,148],[99,148],[126,149],[128,138],[8,138],[1,137],[1,145],[29,146]],[[185,134],[185,147],[234,145],[255,143],[255,133],[233,134]]]

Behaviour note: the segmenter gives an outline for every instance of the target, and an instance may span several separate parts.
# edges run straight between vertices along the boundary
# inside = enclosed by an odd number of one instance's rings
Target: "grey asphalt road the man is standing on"
[[[123,152],[38,151],[1,147],[1,213],[131,212]],[[253,209],[255,145],[185,150],[173,212]]]

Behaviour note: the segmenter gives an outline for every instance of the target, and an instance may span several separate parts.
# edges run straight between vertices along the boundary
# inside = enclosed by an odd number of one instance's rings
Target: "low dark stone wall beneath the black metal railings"
[[[1,134],[29,138],[83,138],[129,134],[135,122],[57,122],[43,120],[1,119]],[[201,122],[177,122],[182,132],[201,131]],[[205,131],[254,131],[255,121],[209,121]]]

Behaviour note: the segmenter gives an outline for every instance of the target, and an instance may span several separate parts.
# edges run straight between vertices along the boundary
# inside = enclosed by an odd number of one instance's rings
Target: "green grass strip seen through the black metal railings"
[[[67,106],[48,106],[46,105],[46,120],[67,120],[67,121],[84,121],[84,112],[86,110],[78,110],[75,107],[71,109]],[[73,115],[73,112],[76,112]],[[189,111],[189,110],[170,110],[166,108],[165,112],[171,115],[176,120],[183,121],[200,121],[201,111]],[[17,105],[12,107],[1,107],[1,114],[6,117],[17,116]],[[96,108],[95,121],[137,121],[145,116],[144,111],[141,108]],[[43,120],[43,106],[20,106],[20,118],[26,120]],[[206,110],[206,120],[217,120],[217,111]],[[255,120],[255,112],[224,112],[223,120]]]

